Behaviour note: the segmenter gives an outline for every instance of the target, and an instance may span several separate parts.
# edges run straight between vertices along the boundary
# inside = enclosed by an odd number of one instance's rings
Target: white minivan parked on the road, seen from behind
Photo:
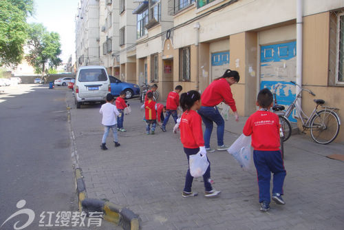
[[[88,65],[79,68],[74,83],[76,108],[86,102],[106,101],[109,92],[111,85],[105,67]]]

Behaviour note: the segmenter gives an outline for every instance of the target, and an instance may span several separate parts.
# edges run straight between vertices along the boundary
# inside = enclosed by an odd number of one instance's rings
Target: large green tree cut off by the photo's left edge
[[[33,0],[0,0],[0,65],[18,65],[23,59]]]

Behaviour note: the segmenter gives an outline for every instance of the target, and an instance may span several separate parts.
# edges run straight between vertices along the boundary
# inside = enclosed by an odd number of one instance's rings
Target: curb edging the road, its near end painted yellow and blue
[[[103,219],[107,222],[117,224],[125,230],[140,230],[142,222],[141,218],[137,214],[133,213],[133,211],[109,201],[88,198],[85,181],[83,180],[83,171],[78,165],[78,154],[76,151],[74,132],[72,131],[69,105],[67,105],[67,121],[69,123],[69,132],[72,142],[72,163],[79,211],[85,211],[86,213],[92,211],[103,212]]]

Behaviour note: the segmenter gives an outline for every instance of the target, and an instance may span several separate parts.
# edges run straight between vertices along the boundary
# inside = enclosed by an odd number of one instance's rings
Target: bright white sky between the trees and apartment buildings
[[[1,0],[0,0],[1,1]],[[78,0],[34,0],[35,13],[28,23],[42,23],[47,31],[60,34],[60,58],[67,63],[75,53],[75,15]]]

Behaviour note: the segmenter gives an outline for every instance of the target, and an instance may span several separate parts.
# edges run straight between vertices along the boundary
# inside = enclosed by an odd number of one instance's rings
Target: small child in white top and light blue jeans
[[[102,145],[100,145],[100,148],[103,150],[107,150],[106,140],[107,135],[109,135],[110,129],[112,129],[112,133],[114,134],[115,147],[120,146],[120,143],[118,143],[116,129],[116,116],[118,116],[120,113],[118,112],[116,106],[113,104],[115,101],[114,95],[107,94],[106,101],[107,103],[103,104],[99,110],[100,114],[103,114],[102,124],[104,125],[104,135],[102,139]]]

